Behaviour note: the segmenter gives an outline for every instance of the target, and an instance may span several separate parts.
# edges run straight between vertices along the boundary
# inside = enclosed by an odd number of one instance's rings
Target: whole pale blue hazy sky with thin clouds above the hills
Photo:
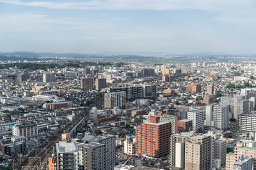
[[[256,53],[255,0],[0,0],[0,52]]]

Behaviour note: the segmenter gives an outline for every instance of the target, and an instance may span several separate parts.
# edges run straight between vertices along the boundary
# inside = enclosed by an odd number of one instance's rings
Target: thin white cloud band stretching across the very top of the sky
[[[214,13],[216,21],[225,24],[255,26],[255,0],[90,0],[52,2],[0,0],[0,3],[51,9],[76,10],[204,10]],[[103,16],[103,15],[102,15]],[[104,16],[103,16],[104,17]],[[238,18],[238,20],[236,20]]]

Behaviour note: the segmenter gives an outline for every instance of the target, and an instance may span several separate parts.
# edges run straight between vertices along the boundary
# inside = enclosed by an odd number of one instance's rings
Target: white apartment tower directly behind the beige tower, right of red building
[[[193,131],[204,131],[204,111],[202,110],[189,110],[187,112],[187,119],[193,121]]]

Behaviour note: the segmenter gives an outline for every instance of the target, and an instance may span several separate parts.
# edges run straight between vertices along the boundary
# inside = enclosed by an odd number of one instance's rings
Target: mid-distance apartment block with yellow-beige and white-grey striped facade
[[[125,109],[126,95],[125,92],[110,92],[104,96],[104,108]]]

